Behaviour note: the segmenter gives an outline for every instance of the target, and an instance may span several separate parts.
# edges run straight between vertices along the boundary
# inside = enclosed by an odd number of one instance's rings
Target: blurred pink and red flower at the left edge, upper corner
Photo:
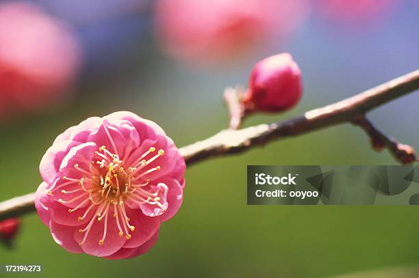
[[[0,3],[0,114],[59,100],[79,62],[78,42],[60,20],[31,3]]]

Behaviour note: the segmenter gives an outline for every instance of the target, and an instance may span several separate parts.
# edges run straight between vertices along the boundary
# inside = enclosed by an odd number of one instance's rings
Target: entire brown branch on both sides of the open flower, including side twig
[[[257,145],[264,145],[264,143],[274,139],[283,139],[327,126],[351,122],[361,126],[368,135],[379,138],[401,163],[412,162],[405,161],[405,154],[406,157],[416,161],[413,148],[406,148],[405,145],[396,142],[394,139],[385,137],[376,128],[373,128],[368,121],[362,120],[362,117],[368,111],[383,105],[385,102],[414,92],[416,89],[419,89],[419,70],[368,89],[351,98],[307,111],[292,120],[273,124],[259,124],[240,130],[221,130],[216,135],[180,148],[179,151],[185,158],[186,163],[191,165],[207,158],[243,152]],[[359,119],[361,119],[361,122],[357,122]],[[0,220],[8,217],[18,217],[25,212],[33,211],[33,200],[34,195],[29,194],[1,202]]]

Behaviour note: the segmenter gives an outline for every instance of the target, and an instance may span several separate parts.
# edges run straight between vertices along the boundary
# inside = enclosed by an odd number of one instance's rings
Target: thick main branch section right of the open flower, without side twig
[[[301,135],[335,124],[353,122],[359,115],[419,89],[419,70],[405,74],[331,105],[307,111],[285,122],[259,124],[240,130],[221,130],[216,135],[180,149],[188,164],[223,154],[242,152],[273,139]]]

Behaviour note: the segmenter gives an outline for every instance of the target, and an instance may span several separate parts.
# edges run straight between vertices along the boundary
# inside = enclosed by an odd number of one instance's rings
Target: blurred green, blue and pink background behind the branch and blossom
[[[223,89],[246,85],[268,55],[293,55],[303,98],[245,126],[418,68],[418,1],[264,1],[0,1],[0,42],[10,44],[0,44],[1,199],[35,191],[45,150],[86,117],[133,111],[179,147],[216,133],[229,120]],[[370,117],[419,150],[418,103],[411,94]],[[45,277],[418,277],[410,271],[419,264],[416,206],[246,206],[246,165],[394,163],[349,124],[319,130],[188,167],[181,210],[138,258],[68,253],[30,214],[0,262],[42,264]]]

